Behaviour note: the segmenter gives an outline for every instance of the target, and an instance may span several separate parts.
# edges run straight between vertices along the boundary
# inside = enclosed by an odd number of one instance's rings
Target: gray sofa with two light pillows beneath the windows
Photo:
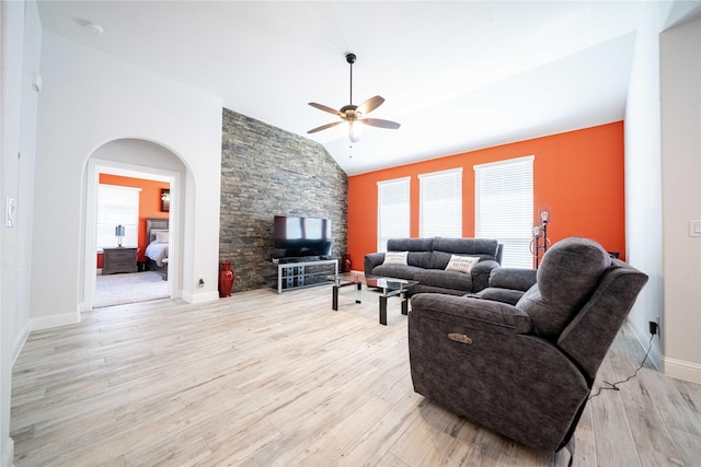
[[[391,238],[388,252],[407,252],[406,264],[384,264],[384,253],[365,256],[365,275],[418,281],[410,295],[420,292],[464,295],[489,285],[490,273],[502,262],[502,245],[487,238]],[[479,257],[470,273],[446,270],[452,255]]]

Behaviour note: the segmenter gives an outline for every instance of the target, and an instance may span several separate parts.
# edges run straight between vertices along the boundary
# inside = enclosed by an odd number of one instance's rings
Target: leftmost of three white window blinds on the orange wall
[[[389,238],[409,236],[410,177],[378,182],[377,184],[377,250],[387,252]]]

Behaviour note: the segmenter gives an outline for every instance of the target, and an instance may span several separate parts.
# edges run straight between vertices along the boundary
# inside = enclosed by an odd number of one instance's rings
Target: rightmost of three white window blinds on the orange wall
[[[474,166],[475,236],[504,245],[503,267],[533,267],[533,159]]]

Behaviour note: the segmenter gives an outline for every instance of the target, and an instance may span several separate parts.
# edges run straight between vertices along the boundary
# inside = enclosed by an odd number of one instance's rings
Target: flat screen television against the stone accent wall
[[[331,220],[275,215],[274,258],[301,258],[331,254]]]

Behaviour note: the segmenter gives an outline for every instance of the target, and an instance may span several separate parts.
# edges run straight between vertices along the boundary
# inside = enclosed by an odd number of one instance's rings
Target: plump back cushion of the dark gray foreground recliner
[[[538,283],[516,306],[531,317],[536,334],[556,339],[610,266],[610,256],[594,241],[558,242],[543,256]]]

